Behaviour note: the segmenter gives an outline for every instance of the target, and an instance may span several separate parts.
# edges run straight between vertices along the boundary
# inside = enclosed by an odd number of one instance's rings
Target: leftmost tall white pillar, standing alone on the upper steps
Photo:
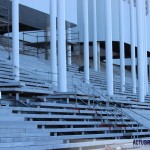
[[[19,0],[12,1],[13,75],[19,81]]]

